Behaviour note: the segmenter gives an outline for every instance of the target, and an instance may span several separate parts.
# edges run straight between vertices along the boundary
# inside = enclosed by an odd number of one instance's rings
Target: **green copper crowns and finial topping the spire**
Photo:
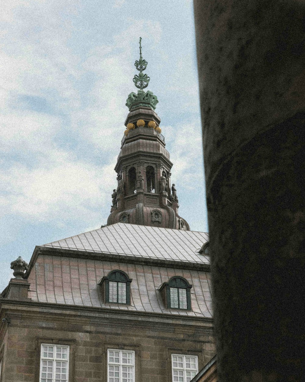
[[[142,46],[141,46],[142,37],[140,37],[140,60],[136,60],[135,67],[140,72],[139,75],[135,75],[133,77],[133,82],[135,86],[139,89],[138,94],[131,92],[128,95],[126,100],[126,106],[129,111],[137,108],[137,107],[150,107],[152,110],[156,108],[157,100],[156,95],[154,95],[151,91],[144,92],[143,89],[148,86],[150,78],[147,74],[143,74],[143,70],[146,69],[147,61],[145,61],[142,57]]]

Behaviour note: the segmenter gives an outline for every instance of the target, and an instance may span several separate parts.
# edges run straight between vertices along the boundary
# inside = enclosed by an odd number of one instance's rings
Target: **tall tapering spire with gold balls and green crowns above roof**
[[[170,185],[169,152],[161,134],[161,122],[154,111],[158,103],[156,95],[144,91],[149,77],[144,74],[147,62],[142,57],[135,67],[140,72],[133,82],[137,94],[128,95],[129,113],[125,120],[124,137],[117,164],[117,189],[111,194],[112,206],[107,225],[131,223],[153,227],[189,230],[189,225],[178,214],[178,198],[175,185]],[[171,194],[172,191],[172,194]]]

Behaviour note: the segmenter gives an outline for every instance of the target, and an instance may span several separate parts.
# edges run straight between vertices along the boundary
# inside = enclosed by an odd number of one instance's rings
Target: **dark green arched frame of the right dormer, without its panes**
[[[180,276],[174,276],[170,278],[169,282],[163,283],[161,287],[159,288],[159,291],[161,293],[162,299],[165,303],[166,308],[169,309],[180,309],[180,310],[191,310],[191,288],[193,285],[189,284],[185,278]],[[170,301],[170,288],[177,289],[177,295],[178,295],[178,308],[171,306]],[[180,308],[180,301],[179,301],[179,289],[185,289],[186,290],[186,305],[187,308]]]

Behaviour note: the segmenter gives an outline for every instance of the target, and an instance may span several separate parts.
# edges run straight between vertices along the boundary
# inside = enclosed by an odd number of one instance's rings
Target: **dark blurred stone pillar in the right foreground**
[[[220,381],[305,381],[305,2],[194,12]]]

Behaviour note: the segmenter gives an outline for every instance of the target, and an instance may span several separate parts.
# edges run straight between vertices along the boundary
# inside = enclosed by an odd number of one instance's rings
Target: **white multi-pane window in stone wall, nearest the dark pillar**
[[[189,382],[198,372],[198,357],[172,354],[173,382]]]

